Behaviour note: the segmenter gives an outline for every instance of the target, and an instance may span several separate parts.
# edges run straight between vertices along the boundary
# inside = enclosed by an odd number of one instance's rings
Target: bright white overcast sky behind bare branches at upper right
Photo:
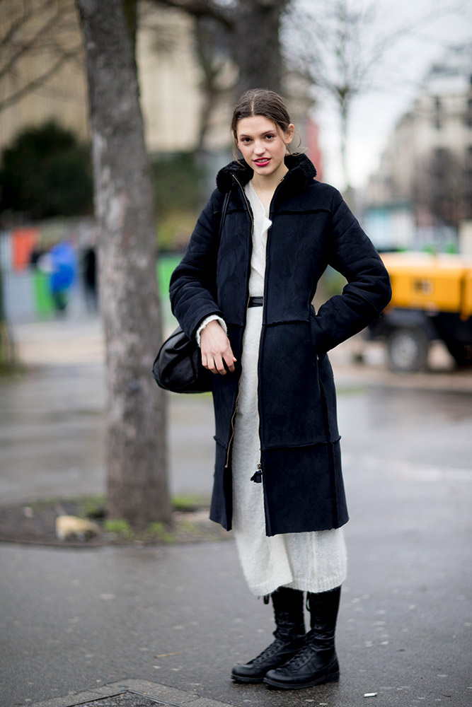
[[[352,2],[364,4],[364,0]],[[430,65],[442,58],[448,45],[472,41],[472,0],[376,0],[376,4],[381,35],[385,28],[404,26],[433,10],[451,6],[461,6],[461,10],[442,16],[413,37],[401,40],[386,54],[386,66],[384,69],[380,67],[376,76],[376,82],[384,84],[384,90],[357,99],[348,147],[350,178],[355,187],[363,187],[375,171],[388,134],[413,103],[417,92],[414,86],[418,86]],[[390,86],[385,78],[387,71],[393,77]],[[323,103],[323,107],[318,104],[315,112],[321,127],[323,179],[343,189],[336,113],[326,101]]]

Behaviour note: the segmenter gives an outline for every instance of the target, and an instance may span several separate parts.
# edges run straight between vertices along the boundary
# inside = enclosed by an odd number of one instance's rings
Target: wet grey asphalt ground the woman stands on
[[[96,551],[4,544],[1,707],[124,677],[235,707],[356,707],[374,691],[378,707],[470,705],[467,379],[405,385],[342,361],[335,377],[351,515],[340,684],[295,693],[231,684],[231,665],[253,657],[272,631],[270,607],[249,594],[232,542]],[[100,361],[1,382],[3,501],[103,489],[103,405]],[[172,396],[171,420],[173,490],[208,493],[210,399]]]

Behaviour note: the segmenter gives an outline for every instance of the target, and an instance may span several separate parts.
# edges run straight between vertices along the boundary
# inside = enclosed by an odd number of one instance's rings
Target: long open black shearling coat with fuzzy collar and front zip
[[[379,317],[391,298],[388,274],[340,193],[317,182],[306,156],[286,158],[289,172],[270,205],[258,405],[267,535],[328,530],[347,522],[333,373],[326,351]],[[171,278],[171,303],[189,337],[217,314],[241,361],[251,271],[251,207],[246,163],[217,175]],[[229,204],[217,243],[224,194]],[[315,313],[311,301],[327,265],[347,285]],[[241,367],[214,375],[217,443],[210,518],[231,528],[231,440]],[[248,483],[255,469],[248,469]]]

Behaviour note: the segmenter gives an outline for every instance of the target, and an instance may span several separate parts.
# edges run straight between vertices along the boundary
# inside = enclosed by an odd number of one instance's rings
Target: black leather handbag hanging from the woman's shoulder
[[[221,238],[229,192],[226,193],[219,221],[218,247]],[[154,359],[152,375],[159,387],[175,393],[202,393],[212,390],[212,373],[202,366],[197,341],[190,341],[180,327],[164,341]]]

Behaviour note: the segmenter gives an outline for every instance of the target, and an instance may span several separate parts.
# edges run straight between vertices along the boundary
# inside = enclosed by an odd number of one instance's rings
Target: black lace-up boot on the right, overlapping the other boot
[[[264,682],[272,687],[297,690],[339,679],[339,664],[334,645],[341,588],[308,594],[311,630],[304,646],[284,665],[267,672]]]

